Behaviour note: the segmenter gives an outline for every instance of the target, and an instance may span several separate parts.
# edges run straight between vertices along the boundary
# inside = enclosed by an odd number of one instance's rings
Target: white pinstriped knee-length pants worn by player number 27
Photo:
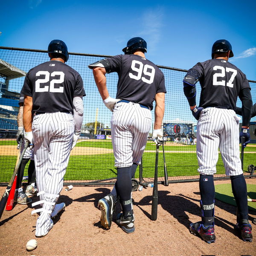
[[[197,125],[198,172],[202,175],[216,173],[218,148],[227,176],[243,173],[239,152],[239,117],[235,111],[205,108]]]

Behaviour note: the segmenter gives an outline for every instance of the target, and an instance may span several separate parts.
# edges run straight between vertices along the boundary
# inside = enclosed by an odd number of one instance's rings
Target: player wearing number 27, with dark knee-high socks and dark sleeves
[[[198,62],[183,79],[184,94],[197,125],[198,172],[201,195],[202,221],[190,224],[191,233],[201,236],[207,243],[215,241],[213,175],[216,173],[218,148],[226,175],[230,176],[238,207],[235,226],[244,241],[252,241],[252,227],[248,221],[247,187],[239,158],[239,136],[250,141],[249,122],[252,107],[250,85],[244,73],[228,62],[233,57],[229,41],[221,39],[212,46],[212,59]],[[200,81],[201,97],[196,105],[195,84]],[[236,116],[237,97],[242,102],[242,128],[239,134],[239,117]]]

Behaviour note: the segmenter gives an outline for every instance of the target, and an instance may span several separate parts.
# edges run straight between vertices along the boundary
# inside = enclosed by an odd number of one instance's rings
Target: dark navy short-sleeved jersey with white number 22
[[[74,96],[85,96],[79,73],[61,61],[47,61],[26,74],[21,93],[33,99],[33,112],[73,113]]]

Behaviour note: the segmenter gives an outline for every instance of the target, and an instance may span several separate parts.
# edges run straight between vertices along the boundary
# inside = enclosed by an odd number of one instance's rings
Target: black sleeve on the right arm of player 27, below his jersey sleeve
[[[242,126],[249,126],[251,118],[251,109],[253,105],[250,88],[245,87],[244,89],[240,90],[239,99],[241,99],[242,102]]]

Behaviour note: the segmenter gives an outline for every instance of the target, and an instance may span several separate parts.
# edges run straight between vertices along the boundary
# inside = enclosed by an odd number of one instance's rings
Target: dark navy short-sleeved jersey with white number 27
[[[236,101],[244,88],[250,88],[244,73],[223,59],[198,62],[192,69],[200,74],[200,107],[236,110]]]

